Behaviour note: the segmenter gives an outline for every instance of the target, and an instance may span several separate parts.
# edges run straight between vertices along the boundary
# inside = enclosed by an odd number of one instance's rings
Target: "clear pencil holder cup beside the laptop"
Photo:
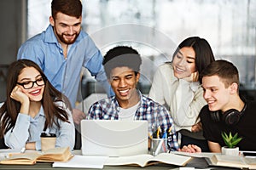
[[[167,152],[167,139],[151,139],[149,150],[152,156],[157,156],[160,153]]]

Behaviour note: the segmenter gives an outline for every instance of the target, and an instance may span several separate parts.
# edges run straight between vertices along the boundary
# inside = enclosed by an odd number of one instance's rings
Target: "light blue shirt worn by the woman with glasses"
[[[62,102],[58,102],[57,105],[63,105]],[[65,109],[66,106],[63,106]],[[41,106],[38,115],[35,117],[19,113],[15,122],[15,127],[10,129],[4,134],[4,142],[9,148],[20,149],[25,147],[27,142],[35,142],[36,150],[41,150],[41,133],[55,133],[56,144],[55,147],[67,147],[73,150],[75,143],[75,127],[73,124],[73,116],[71,111],[65,109],[68,114],[68,121],[62,122],[57,119],[56,122],[60,124],[60,128],[53,124],[52,127],[47,128],[44,131],[44,109]]]

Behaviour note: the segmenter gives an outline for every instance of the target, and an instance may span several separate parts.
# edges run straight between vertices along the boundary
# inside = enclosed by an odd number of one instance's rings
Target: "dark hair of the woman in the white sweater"
[[[172,55],[172,59],[175,57],[177,52],[184,47],[191,47],[195,50],[195,67],[199,73],[201,73],[207,65],[212,63],[212,61],[215,61],[209,42],[201,37],[188,37],[184,39],[183,42],[178,45]],[[201,82],[201,78],[199,81]]]

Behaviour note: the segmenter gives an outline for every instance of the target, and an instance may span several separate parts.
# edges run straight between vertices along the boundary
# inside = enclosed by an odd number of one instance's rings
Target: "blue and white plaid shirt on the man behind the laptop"
[[[177,150],[176,131],[173,127],[172,117],[163,105],[160,105],[154,100],[143,96],[140,92],[140,105],[137,108],[134,119],[148,121],[148,133],[153,134],[155,127],[162,129],[172,129],[172,136],[168,139],[171,150]],[[107,99],[101,99],[90,106],[87,119],[97,120],[118,120],[120,106],[117,99],[113,96]]]

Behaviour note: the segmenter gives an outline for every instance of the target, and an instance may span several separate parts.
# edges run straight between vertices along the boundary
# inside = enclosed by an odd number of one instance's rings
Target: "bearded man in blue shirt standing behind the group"
[[[89,35],[81,30],[82,3],[80,0],[53,0],[46,31],[30,38],[19,49],[17,59],[36,62],[49,82],[65,94],[73,108],[79,91],[82,67],[101,82],[108,96],[113,92],[102,66],[102,54]],[[85,117],[73,109],[76,124]]]

